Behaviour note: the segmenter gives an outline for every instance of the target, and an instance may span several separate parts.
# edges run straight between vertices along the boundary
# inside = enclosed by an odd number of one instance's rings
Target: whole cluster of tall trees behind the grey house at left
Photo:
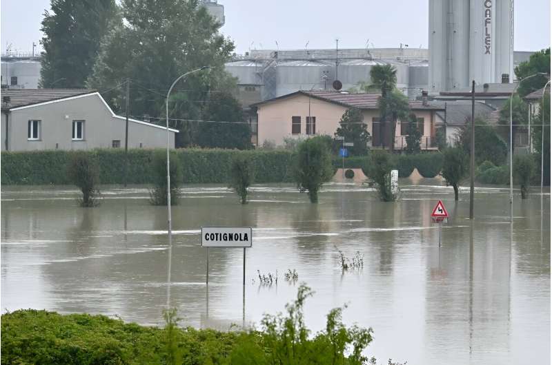
[[[199,1],[51,0],[50,6],[41,28],[41,87],[97,89],[121,114],[128,80],[129,114],[164,124],[172,82],[212,66],[171,92],[177,147],[253,147],[232,96],[236,80],[224,70],[234,43],[219,33],[221,24]]]

